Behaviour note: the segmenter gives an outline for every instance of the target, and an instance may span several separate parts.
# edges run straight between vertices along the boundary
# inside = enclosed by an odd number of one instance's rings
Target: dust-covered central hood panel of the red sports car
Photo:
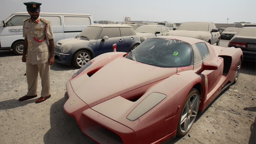
[[[70,81],[76,95],[89,107],[93,107],[116,96],[130,92],[147,84],[176,74],[177,68],[159,68],[136,62],[123,56],[111,61],[83,83],[83,77]]]

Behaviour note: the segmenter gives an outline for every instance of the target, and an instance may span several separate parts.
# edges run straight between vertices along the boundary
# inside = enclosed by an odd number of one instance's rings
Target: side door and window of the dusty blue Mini
[[[104,40],[104,36],[108,36],[108,39]],[[120,49],[124,47],[124,38],[121,37],[119,27],[103,28],[100,37],[97,40],[97,50],[95,52],[95,56],[106,52],[113,52],[113,44],[116,44],[117,52],[120,52]]]

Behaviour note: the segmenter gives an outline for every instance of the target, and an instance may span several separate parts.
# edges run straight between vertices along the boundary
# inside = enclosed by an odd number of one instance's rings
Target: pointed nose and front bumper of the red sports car
[[[68,115],[75,117],[84,134],[97,143],[137,144],[132,129],[89,108],[75,94],[69,80],[66,87],[64,110]]]

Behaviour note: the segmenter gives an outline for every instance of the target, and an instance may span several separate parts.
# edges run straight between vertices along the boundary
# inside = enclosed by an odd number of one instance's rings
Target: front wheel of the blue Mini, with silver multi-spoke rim
[[[72,63],[76,68],[82,68],[91,59],[92,57],[90,52],[86,50],[80,50],[74,55]]]

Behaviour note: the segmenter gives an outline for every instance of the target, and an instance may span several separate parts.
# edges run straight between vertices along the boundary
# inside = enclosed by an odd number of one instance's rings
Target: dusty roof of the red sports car
[[[196,43],[202,43],[202,42],[205,43],[205,41],[203,41],[203,40],[191,38],[191,37],[185,37],[185,36],[157,36],[157,37],[153,37],[153,38],[176,39],[176,40],[187,42],[191,45],[196,44]]]

